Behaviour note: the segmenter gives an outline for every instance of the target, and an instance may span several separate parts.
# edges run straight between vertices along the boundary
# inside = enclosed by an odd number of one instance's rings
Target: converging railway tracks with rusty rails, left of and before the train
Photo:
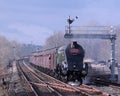
[[[70,86],[49,75],[46,75],[32,66],[20,64],[24,74],[36,90],[38,96],[108,96],[105,92],[89,87],[87,85]]]

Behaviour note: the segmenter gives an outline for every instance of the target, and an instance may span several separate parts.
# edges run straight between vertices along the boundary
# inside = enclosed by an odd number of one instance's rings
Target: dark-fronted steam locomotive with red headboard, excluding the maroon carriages
[[[82,84],[88,73],[88,65],[83,63],[84,55],[84,49],[77,42],[60,47],[55,72],[70,84]]]

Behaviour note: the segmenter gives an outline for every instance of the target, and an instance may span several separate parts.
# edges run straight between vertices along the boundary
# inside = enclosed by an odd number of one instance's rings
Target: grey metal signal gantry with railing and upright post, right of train
[[[79,29],[78,29],[79,28]],[[77,30],[76,30],[77,29]],[[111,41],[111,80],[115,81],[115,40],[116,40],[116,34],[115,30],[113,27],[110,26],[79,26],[76,27],[75,30],[71,30],[71,26],[69,24],[69,27],[66,27],[66,33],[64,37],[66,39],[71,39],[71,38],[88,38],[88,39],[105,39],[105,40],[110,40]],[[100,29],[100,30],[99,30]],[[75,33],[77,31],[77,33]],[[74,33],[72,33],[74,32]],[[78,32],[110,32],[110,34],[81,34]],[[119,73],[118,73],[118,77]],[[118,82],[119,79],[118,79]]]

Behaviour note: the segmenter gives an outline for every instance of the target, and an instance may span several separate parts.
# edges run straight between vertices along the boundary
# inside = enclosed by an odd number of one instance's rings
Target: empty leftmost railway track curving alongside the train
[[[27,73],[28,81],[36,89],[36,93],[39,94],[39,96],[63,96],[60,90],[56,90],[49,82],[45,81],[45,79],[48,80],[49,77],[46,78],[46,76],[37,75],[34,70],[30,69],[28,66],[26,67],[25,64],[22,65],[22,68],[25,70],[25,73]],[[52,82],[51,79],[49,79],[49,81]]]

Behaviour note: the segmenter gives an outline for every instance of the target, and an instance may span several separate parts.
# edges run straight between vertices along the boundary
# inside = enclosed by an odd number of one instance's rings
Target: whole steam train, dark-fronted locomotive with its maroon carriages
[[[50,49],[30,55],[30,62],[69,84],[82,84],[88,74],[88,65],[83,63],[85,51],[76,41],[58,49]]]

